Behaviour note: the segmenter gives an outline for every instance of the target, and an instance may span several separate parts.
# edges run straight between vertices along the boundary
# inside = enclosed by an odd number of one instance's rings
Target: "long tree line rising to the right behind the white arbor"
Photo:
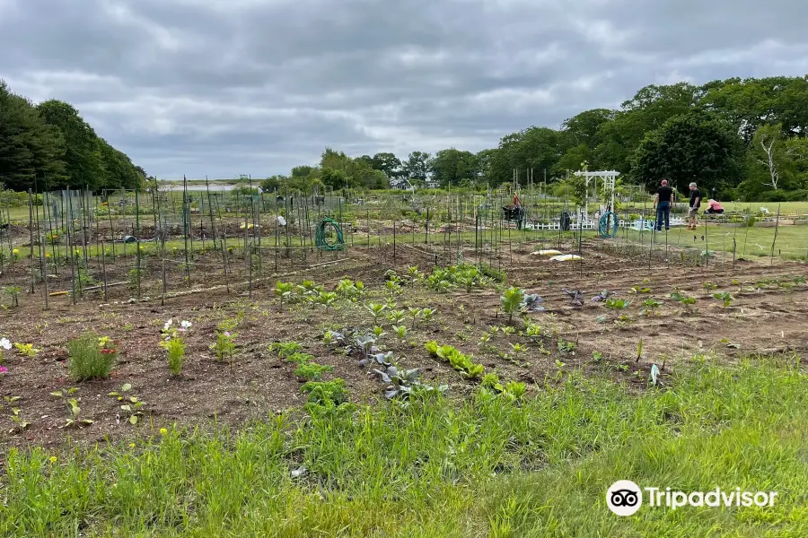
[[[348,157],[327,148],[319,166],[299,166],[265,187],[379,188],[386,178],[441,187],[563,181],[582,169],[618,170],[623,182],[655,189],[662,178],[686,191],[696,181],[722,199],[808,199],[808,76],[732,78],[650,85],[619,109],[595,108],[558,129],[531,126],[496,148],[434,155],[390,152]],[[381,174],[374,173],[381,172]]]

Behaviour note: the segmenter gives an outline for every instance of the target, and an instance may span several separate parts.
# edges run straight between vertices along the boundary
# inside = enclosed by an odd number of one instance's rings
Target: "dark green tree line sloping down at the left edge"
[[[0,184],[46,188],[139,188],[144,169],[98,136],[78,110],[60,100],[37,105],[0,80]]]

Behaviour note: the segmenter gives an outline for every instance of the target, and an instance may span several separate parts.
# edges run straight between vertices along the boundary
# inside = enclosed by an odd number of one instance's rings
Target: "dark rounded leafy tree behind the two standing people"
[[[673,117],[647,134],[633,156],[633,177],[655,187],[668,178],[684,190],[698,183],[705,197],[737,185],[742,173],[742,143],[725,120],[705,112]]]

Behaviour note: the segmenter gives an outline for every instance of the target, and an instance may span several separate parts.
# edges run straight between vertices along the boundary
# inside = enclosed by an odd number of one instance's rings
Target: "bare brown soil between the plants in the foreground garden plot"
[[[473,353],[486,367],[504,380],[523,381],[531,387],[558,383],[573,369],[598,372],[626,382],[637,390],[648,384],[652,364],[663,367],[663,383],[672,371],[695,351],[712,353],[726,360],[739,354],[804,352],[808,348],[808,322],[804,281],[808,270],[803,263],[777,262],[769,265],[751,261],[734,264],[710,262],[708,266],[684,266],[674,263],[674,253],[638,259],[636,252],[605,249],[596,242],[584,244],[581,262],[552,262],[531,252],[536,243],[514,245],[501,258],[480,256],[483,265],[501,267],[507,282],[544,299],[546,312],[529,316],[549,336],[540,341],[514,334],[497,332],[486,345],[480,336],[491,326],[506,325],[500,309],[498,291],[454,290],[439,294],[415,283],[405,285],[395,297],[398,308],[436,308],[435,320],[420,324],[400,341],[389,324],[381,343],[395,352],[406,368],[422,369],[422,378],[450,385],[450,395],[461,396],[473,389],[475,382],[463,380],[449,365],[426,353],[424,343],[436,340],[452,344],[461,351]],[[305,259],[303,252],[306,252]],[[468,262],[477,262],[473,249],[466,249]],[[209,426],[212,422],[242,427],[250,420],[266,418],[278,412],[301,406],[306,395],[301,381],[294,376],[295,365],[277,358],[268,350],[275,342],[302,343],[316,361],[334,368],[326,376],[345,379],[351,399],[373,402],[382,398],[384,385],[360,368],[356,358],[349,357],[336,346],[322,343],[327,329],[343,327],[369,330],[372,317],[363,304],[341,302],[337,308],[295,304],[281,307],[272,291],[276,280],[302,282],[305,279],[333,289],[338,280],[363,281],[368,294],[363,299],[382,302],[385,272],[395,269],[407,274],[407,267],[417,265],[427,273],[435,261],[456,260],[446,247],[421,245],[401,246],[395,254],[390,246],[352,247],[343,253],[291,251],[279,256],[277,269],[271,256],[262,260],[260,268],[250,270],[243,257],[234,260],[225,274],[216,253],[198,255],[186,279],[182,263],[166,266],[166,298],[162,305],[162,262],[147,257],[144,266],[141,298],[133,297],[129,285],[111,287],[107,298],[102,290],[84,291],[81,298],[61,295],[49,298],[44,310],[44,288],[34,286],[33,294],[25,294],[30,285],[29,273],[0,275],[0,286],[22,282],[21,306],[7,308],[0,314],[0,337],[13,342],[33,343],[40,352],[33,358],[19,351],[5,351],[4,366],[8,372],[0,379],[0,395],[22,396],[0,410],[2,445],[28,444],[54,447],[68,438],[75,443],[93,443],[105,439],[124,441],[137,436],[154,435],[155,430],[172,423]],[[107,282],[127,281],[134,256],[108,261]],[[677,260],[678,261],[678,260]],[[99,264],[92,262],[97,280]],[[29,270],[30,271],[30,270]],[[26,278],[28,279],[26,283]],[[71,286],[69,266],[48,278],[48,290],[68,290]],[[731,291],[733,303],[724,308],[711,297],[704,282],[715,282],[716,291]],[[251,298],[249,296],[251,288]],[[564,289],[584,292],[583,307],[570,304]],[[648,288],[633,294],[632,288]],[[602,290],[614,297],[629,299],[625,311],[614,312],[592,298]],[[682,308],[670,299],[673,290],[698,298],[692,308]],[[642,312],[646,299],[663,302],[655,315]],[[615,323],[622,314],[630,321]],[[605,323],[597,320],[606,316]],[[215,341],[216,326],[225,318],[242,317],[236,329],[238,351],[233,365],[215,359],[210,345]],[[160,329],[168,318],[193,322],[187,340],[187,360],[180,377],[172,377],[159,347]],[[409,326],[409,322],[407,323]],[[521,327],[521,322],[514,320]],[[121,342],[119,360],[110,378],[72,382],[68,377],[66,343],[84,330],[110,336]],[[558,340],[575,343],[574,352],[558,350]],[[637,358],[637,344],[642,340],[642,355]],[[514,358],[511,343],[523,343],[528,351]],[[603,355],[593,360],[593,351]],[[129,392],[145,401],[144,415],[132,426],[119,417],[120,403],[108,393],[125,383]],[[68,410],[64,402],[49,395],[53,391],[76,386],[80,397],[81,419],[92,420],[83,428],[65,428]],[[11,421],[12,407],[21,410],[25,430]]]

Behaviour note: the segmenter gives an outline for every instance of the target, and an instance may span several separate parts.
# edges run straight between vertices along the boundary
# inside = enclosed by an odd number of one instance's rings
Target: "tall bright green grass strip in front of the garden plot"
[[[569,377],[521,404],[311,408],[233,434],[136,447],[13,449],[14,536],[804,536],[808,379],[796,360],[694,362],[631,395]],[[293,478],[291,471],[306,473]],[[772,508],[605,506],[612,482],[777,490]]]

